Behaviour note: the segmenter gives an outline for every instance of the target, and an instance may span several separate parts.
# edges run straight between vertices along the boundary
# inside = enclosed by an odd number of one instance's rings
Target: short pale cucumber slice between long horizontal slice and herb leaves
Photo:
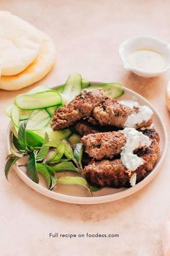
[[[45,109],[37,109],[32,111],[27,121],[27,129],[36,130],[43,129],[48,125],[50,121],[50,115]]]

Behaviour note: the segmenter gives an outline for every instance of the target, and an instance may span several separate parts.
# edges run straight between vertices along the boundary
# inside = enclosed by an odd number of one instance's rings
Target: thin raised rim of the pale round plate
[[[91,81],[91,84],[101,84],[101,83],[102,82],[92,82]],[[58,85],[58,86],[60,86],[60,85]],[[151,171],[151,173],[148,174],[148,176],[146,176],[145,179],[143,179],[141,182],[136,184],[134,187],[130,187],[128,189],[117,192],[115,194],[102,195],[102,196],[97,196],[97,197],[76,197],[76,196],[63,195],[63,194],[58,193],[58,192],[50,191],[50,190],[46,189],[45,187],[42,187],[40,184],[36,184],[35,182],[32,182],[32,180],[21,171],[21,168],[19,168],[19,166],[17,166],[17,163],[15,163],[13,168],[16,171],[19,178],[22,179],[22,181],[25,184],[27,184],[29,187],[31,187],[36,192],[39,192],[42,195],[45,195],[47,197],[50,197],[54,200],[58,200],[58,201],[61,201],[61,202],[67,202],[67,203],[73,203],[73,204],[82,204],[82,205],[99,204],[99,203],[105,203],[105,202],[112,202],[112,201],[120,200],[122,198],[133,195],[135,192],[138,192],[143,187],[146,187],[146,185],[149,182],[151,182],[152,179],[155,178],[155,176],[158,174],[158,172],[161,171],[160,166],[161,166],[161,163],[163,162],[163,160],[165,158],[166,151],[167,151],[168,135],[167,135],[166,127],[164,125],[164,121],[162,120],[160,114],[158,114],[158,111],[156,110],[156,108],[154,108],[153,105],[146,98],[144,98],[142,95],[136,93],[134,90],[131,90],[131,89],[126,88],[126,87],[123,87],[123,89],[125,90],[125,92],[133,93],[134,96],[136,95],[139,98],[141,98],[143,101],[146,101],[146,104],[148,106],[150,106],[153,109],[154,113],[157,115],[157,117],[158,117],[158,119],[161,123],[161,127],[164,131],[164,148],[163,148],[163,151],[161,153],[161,157],[160,157],[158,163],[156,163],[156,166],[153,168],[153,171]],[[11,134],[11,122],[9,123],[9,127],[7,129],[7,150],[8,150],[8,153],[10,153],[10,134]]]

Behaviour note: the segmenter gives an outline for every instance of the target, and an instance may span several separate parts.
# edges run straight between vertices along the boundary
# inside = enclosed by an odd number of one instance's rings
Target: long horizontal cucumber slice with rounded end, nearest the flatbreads
[[[55,90],[35,94],[23,94],[15,98],[14,103],[22,109],[48,108],[62,103],[61,96]]]

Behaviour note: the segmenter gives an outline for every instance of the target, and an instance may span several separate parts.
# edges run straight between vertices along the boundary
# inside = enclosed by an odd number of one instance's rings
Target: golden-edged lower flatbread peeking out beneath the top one
[[[41,80],[42,77],[45,77],[53,68],[56,56],[53,41],[48,35],[45,35],[41,31],[39,31],[39,33],[42,35],[42,46],[35,61],[19,74],[9,77],[1,76],[0,89],[19,90],[28,85],[32,85],[34,82]]]

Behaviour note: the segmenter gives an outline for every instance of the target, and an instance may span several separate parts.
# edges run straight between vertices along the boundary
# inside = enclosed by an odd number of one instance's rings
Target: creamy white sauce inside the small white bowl
[[[165,62],[163,56],[156,51],[140,49],[133,51],[128,56],[128,62],[133,67],[137,67],[146,72],[158,72],[164,68]]]

